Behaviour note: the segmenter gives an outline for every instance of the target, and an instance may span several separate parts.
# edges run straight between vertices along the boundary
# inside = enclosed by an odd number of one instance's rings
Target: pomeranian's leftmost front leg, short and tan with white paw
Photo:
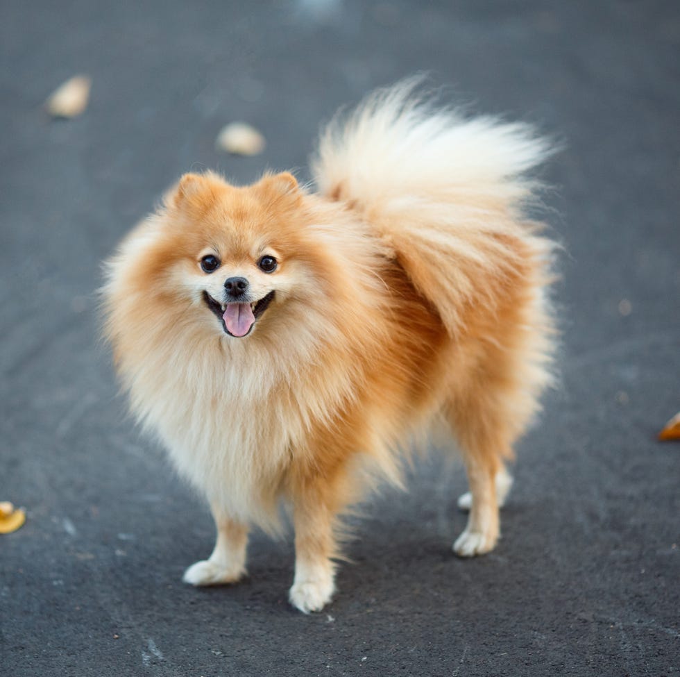
[[[211,505],[217,528],[217,540],[207,560],[189,567],[182,578],[191,585],[236,583],[246,574],[248,528],[229,519],[218,505]]]

